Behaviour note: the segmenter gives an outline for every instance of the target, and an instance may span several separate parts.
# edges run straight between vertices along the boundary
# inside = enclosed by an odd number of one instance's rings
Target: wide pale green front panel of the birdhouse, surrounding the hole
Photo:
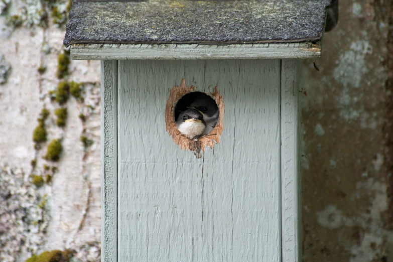
[[[169,89],[225,103],[201,159],[165,128]],[[281,261],[280,61],[119,61],[119,261]]]

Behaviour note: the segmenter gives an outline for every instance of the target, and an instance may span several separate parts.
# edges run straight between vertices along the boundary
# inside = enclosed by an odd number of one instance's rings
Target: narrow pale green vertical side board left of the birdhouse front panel
[[[117,261],[117,61],[101,62],[101,261]]]

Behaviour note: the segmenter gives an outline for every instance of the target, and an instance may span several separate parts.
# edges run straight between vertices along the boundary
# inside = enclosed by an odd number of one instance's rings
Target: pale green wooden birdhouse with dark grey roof
[[[64,44],[102,61],[102,261],[301,261],[299,70],[330,4],[74,3]],[[192,95],[217,117],[189,138]]]

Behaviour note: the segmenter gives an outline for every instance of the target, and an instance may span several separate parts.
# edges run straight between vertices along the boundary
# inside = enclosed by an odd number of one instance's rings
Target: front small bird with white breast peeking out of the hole
[[[193,140],[203,134],[206,124],[201,112],[188,108],[179,114],[176,119],[176,127],[180,133]]]

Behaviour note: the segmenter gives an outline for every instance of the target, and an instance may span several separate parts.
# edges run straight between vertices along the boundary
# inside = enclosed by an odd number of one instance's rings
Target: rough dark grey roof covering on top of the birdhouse
[[[64,44],[268,43],[321,39],[329,0],[83,2]]]

